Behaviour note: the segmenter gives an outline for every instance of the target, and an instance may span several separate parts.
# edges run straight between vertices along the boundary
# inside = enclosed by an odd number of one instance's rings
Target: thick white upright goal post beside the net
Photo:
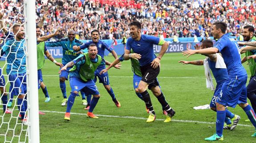
[[[27,46],[27,94],[28,94],[28,142],[40,143],[37,41],[36,41],[36,0],[24,0],[25,36]]]

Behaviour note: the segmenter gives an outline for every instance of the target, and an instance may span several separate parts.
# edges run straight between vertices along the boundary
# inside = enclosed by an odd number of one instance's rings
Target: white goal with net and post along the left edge
[[[0,143],[39,143],[35,0],[0,7]]]

